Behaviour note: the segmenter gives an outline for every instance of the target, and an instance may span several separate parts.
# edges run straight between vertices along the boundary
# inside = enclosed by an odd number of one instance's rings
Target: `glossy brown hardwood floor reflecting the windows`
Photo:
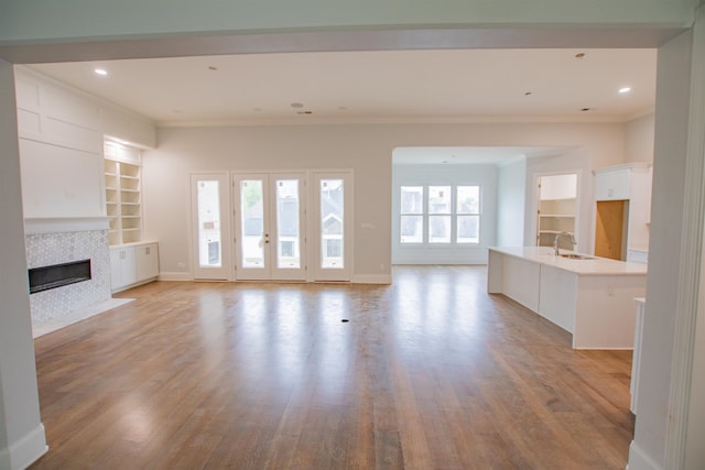
[[[36,339],[32,469],[623,469],[630,351],[574,351],[484,266],[156,282]],[[348,319],[348,323],[341,321]]]

